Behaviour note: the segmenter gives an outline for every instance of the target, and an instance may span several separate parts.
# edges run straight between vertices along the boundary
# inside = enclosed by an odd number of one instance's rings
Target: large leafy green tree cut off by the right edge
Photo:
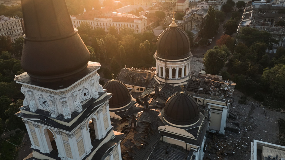
[[[277,64],[273,68],[264,68],[261,76],[262,81],[269,85],[272,95],[285,96],[285,65]]]

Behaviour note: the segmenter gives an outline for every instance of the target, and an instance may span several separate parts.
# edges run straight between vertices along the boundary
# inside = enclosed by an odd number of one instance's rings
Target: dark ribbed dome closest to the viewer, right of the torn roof
[[[176,125],[194,124],[200,118],[198,103],[188,93],[175,93],[166,101],[163,117],[168,122]]]

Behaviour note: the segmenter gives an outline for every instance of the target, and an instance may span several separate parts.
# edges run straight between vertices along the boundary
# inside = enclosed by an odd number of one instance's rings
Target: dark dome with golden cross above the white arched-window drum
[[[180,28],[169,27],[160,33],[156,41],[157,57],[178,60],[191,55],[188,35]]]

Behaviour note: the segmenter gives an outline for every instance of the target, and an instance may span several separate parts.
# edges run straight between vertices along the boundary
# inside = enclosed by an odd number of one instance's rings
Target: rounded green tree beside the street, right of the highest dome
[[[219,47],[209,49],[204,58],[203,62],[205,69],[208,74],[218,74],[219,71],[224,67],[227,60],[227,53],[221,50]]]

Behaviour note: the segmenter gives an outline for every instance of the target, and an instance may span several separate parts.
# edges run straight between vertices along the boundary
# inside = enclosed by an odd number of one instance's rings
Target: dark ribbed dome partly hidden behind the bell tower
[[[118,80],[108,81],[104,87],[108,90],[108,93],[112,93],[113,96],[110,98],[109,108],[121,108],[129,104],[132,100],[126,85]]]

